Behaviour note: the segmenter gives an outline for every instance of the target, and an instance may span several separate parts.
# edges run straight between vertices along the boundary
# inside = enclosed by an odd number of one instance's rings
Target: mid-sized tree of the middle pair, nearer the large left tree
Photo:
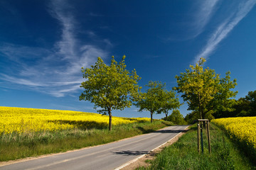
[[[149,111],[151,115],[151,123],[153,122],[153,114],[161,113],[162,98],[164,96],[164,86],[158,81],[149,81],[146,84],[149,89],[145,93],[140,93],[140,98],[134,105],[139,108],[139,111]]]

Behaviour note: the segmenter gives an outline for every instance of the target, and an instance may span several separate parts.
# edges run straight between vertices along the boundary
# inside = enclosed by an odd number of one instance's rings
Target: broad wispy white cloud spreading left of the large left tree
[[[89,67],[97,57],[107,57],[108,52],[80,41],[77,37],[80,26],[73,10],[67,1],[51,1],[48,11],[61,26],[60,39],[51,49],[9,43],[0,46],[0,55],[11,63],[8,67],[3,64],[5,72],[0,74],[6,88],[23,86],[56,97],[72,96],[80,89],[81,67]],[[111,44],[110,41],[102,43]]]

